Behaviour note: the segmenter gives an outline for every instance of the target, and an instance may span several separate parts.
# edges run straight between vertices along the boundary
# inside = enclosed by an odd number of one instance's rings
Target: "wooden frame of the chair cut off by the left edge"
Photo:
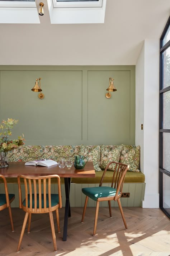
[[[5,208],[8,208],[8,210],[9,210],[9,217],[10,217],[10,223],[11,223],[11,229],[12,229],[12,232],[14,232],[14,224],[13,224],[13,218],[12,218],[10,203],[14,201],[15,196],[9,200],[9,193],[8,193],[8,187],[7,187],[6,179],[1,174],[0,174],[0,178],[2,178],[4,180],[5,196],[6,196],[6,203],[4,205],[0,206],[0,211],[4,210]]]

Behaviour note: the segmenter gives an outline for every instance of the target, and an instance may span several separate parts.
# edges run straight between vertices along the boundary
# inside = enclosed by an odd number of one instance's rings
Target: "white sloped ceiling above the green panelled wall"
[[[0,24],[0,65],[135,65],[169,14],[169,0],[107,0],[104,24]]]

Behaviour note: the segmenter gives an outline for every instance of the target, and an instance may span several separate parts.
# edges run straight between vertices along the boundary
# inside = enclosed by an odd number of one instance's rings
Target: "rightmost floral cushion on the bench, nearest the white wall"
[[[121,152],[120,161],[126,165],[129,165],[129,171],[140,172],[140,146],[122,145],[123,150]]]

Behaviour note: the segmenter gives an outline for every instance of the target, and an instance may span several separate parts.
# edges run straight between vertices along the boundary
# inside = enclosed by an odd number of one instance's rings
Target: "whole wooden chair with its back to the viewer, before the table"
[[[23,201],[22,201],[22,190],[21,190],[20,178],[24,179],[25,199]],[[57,178],[58,180],[58,194],[51,194],[51,178]],[[48,180],[48,194],[46,194],[47,180]],[[36,181],[38,184],[36,184]],[[43,181],[43,189],[41,187],[42,181]],[[56,174],[41,176],[41,177],[19,175],[18,187],[19,187],[19,208],[22,208],[23,211],[25,211],[26,213],[24,217],[24,222],[23,222],[22,231],[21,231],[21,235],[18,243],[17,252],[19,252],[20,250],[20,245],[23,239],[27,220],[28,220],[28,233],[30,232],[32,213],[33,214],[49,213],[54,250],[57,251],[55,227],[54,227],[52,212],[56,211],[58,233],[60,233],[60,223],[59,223],[59,214],[58,214],[58,208],[62,207],[60,177]],[[29,190],[29,193],[28,193],[28,190]],[[28,219],[28,216],[29,216],[29,219]]]

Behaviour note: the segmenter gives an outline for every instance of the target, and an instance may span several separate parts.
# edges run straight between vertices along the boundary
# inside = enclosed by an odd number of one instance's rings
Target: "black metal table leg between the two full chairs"
[[[66,205],[65,205],[65,215],[64,215],[64,227],[63,227],[63,241],[67,240],[67,226],[68,226],[68,217],[71,216],[70,211],[70,178],[64,178],[65,184],[65,193],[66,193]]]

